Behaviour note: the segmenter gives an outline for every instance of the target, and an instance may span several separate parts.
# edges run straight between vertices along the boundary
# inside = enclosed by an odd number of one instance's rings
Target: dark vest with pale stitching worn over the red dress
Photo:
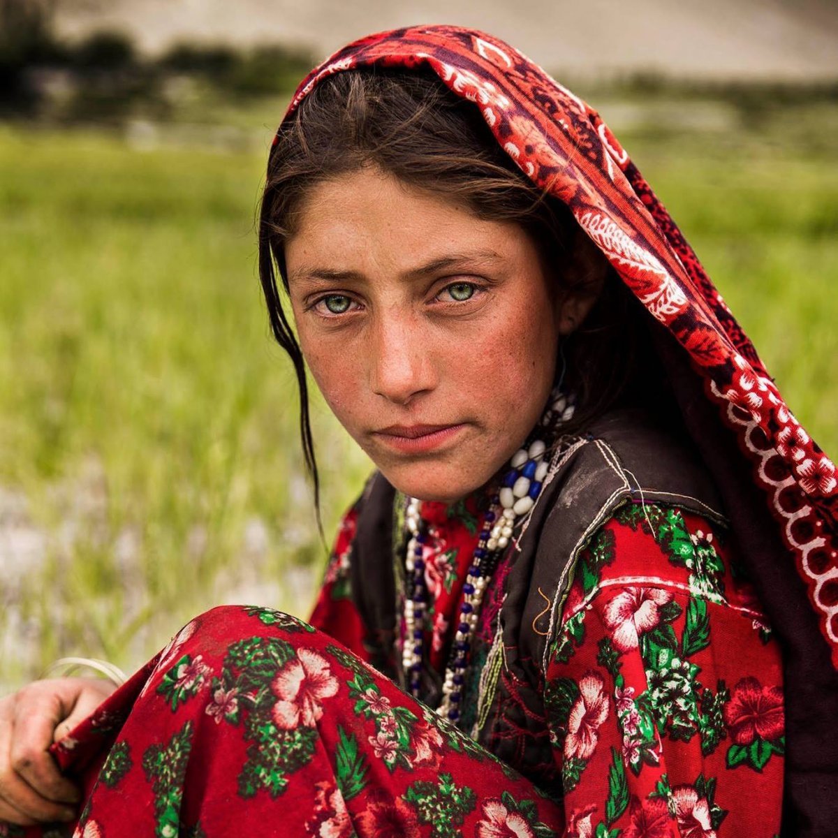
[[[395,490],[376,473],[358,523],[352,590],[374,665],[403,686],[395,641],[404,541],[394,525],[395,499]],[[561,787],[551,782],[557,769],[542,701],[550,639],[561,623],[579,551],[630,500],[677,504],[724,521],[711,478],[687,442],[656,426],[644,411],[613,411],[583,436],[561,440],[518,545],[486,592],[461,727],[545,791]],[[494,610],[493,599],[499,603]],[[426,671],[423,700],[435,706],[440,688],[437,673]]]

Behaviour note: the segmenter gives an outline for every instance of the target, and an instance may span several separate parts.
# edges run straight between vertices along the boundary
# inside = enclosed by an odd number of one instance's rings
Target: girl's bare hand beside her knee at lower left
[[[0,821],[28,826],[75,820],[79,789],[47,749],[115,689],[98,678],[59,678],[0,698]]]

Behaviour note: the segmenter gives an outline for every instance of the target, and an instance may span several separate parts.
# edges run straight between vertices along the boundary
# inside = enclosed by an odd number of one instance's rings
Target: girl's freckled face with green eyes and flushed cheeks
[[[308,194],[285,258],[303,355],[385,478],[448,502],[486,484],[572,328],[530,236],[366,168]]]

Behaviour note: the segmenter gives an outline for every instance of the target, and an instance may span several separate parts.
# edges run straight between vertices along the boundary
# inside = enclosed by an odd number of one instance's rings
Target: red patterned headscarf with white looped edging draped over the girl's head
[[[670,367],[670,379],[728,510],[738,515],[740,537],[742,530],[747,534],[746,552],[762,578],[758,588],[769,618],[783,639],[784,612],[795,612],[803,628],[793,626],[785,637],[794,655],[811,645],[814,629],[807,634],[804,624],[816,623],[838,669],[835,465],[794,418],[696,254],[599,114],[491,35],[417,26],[339,49],[303,80],[286,118],[319,80],[369,65],[430,68],[473,101],[510,158],[570,207],[623,281],[686,350],[680,369]],[[749,493],[757,499],[750,505]],[[770,544],[763,519],[773,530]],[[789,598],[789,584],[799,603]],[[809,651],[812,667],[828,660]]]

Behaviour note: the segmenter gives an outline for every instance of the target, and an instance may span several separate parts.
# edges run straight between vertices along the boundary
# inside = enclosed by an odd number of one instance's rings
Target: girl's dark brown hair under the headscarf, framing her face
[[[598,271],[575,270],[569,287],[566,269],[582,250],[572,247],[579,228],[570,210],[517,168],[477,107],[449,91],[436,75],[346,70],[319,82],[280,127],[259,223],[261,286],[272,332],[297,374],[303,456],[315,499],[319,484],[305,365],[282,307],[277,270],[287,292],[283,245],[309,190],[365,166],[461,202],[478,218],[519,224],[535,241],[557,294],[585,293],[584,286],[594,284],[592,277],[597,287],[602,280],[601,264]],[[592,245],[585,250],[587,258],[604,259]],[[634,360],[644,335],[642,318],[632,308],[639,303],[608,268],[585,323],[563,345],[560,369],[566,370],[567,388],[577,395],[577,429],[613,405],[635,377]]]

